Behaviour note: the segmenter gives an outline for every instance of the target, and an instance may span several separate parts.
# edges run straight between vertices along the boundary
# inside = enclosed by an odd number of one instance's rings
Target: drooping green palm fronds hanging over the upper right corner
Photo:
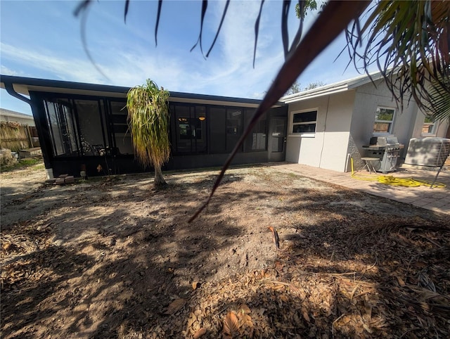
[[[361,32],[353,25],[346,34],[355,67],[362,61],[359,69],[368,73],[376,65],[401,108],[412,98],[421,109],[442,112],[432,96],[450,94],[450,1],[378,1],[369,12]]]

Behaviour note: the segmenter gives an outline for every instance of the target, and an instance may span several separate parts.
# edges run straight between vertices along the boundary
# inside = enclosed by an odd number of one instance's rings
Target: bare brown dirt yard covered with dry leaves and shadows
[[[450,337],[448,216],[259,166],[188,224],[217,173],[2,173],[1,338]]]

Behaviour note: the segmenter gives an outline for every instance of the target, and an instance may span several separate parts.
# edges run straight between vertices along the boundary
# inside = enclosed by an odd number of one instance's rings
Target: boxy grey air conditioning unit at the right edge
[[[450,139],[413,138],[409,141],[405,164],[440,167],[449,153]]]

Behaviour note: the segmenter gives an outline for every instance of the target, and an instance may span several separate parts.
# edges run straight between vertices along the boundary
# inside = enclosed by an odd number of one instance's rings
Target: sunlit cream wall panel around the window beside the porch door
[[[286,161],[344,172],[355,91],[290,103]],[[317,109],[314,136],[292,134],[293,114]]]

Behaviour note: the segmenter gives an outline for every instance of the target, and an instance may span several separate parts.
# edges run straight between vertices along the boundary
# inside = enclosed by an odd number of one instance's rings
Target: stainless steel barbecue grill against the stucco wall
[[[377,172],[395,171],[397,159],[404,145],[399,143],[397,136],[373,136],[369,145],[363,146],[364,157],[378,158],[372,165]]]

